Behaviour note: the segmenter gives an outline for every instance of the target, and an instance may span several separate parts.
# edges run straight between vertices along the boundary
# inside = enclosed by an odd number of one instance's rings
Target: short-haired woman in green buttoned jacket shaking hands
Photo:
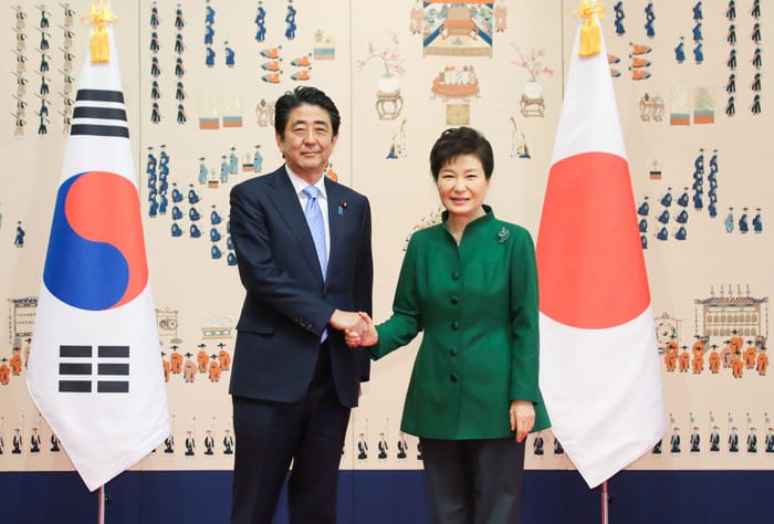
[[[420,439],[433,522],[517,523],[524,440],[548,427],[537,387],[537,274],[532,238],[483,205],[492,147],[475,129],[430,153],[446,211],[409,241],[393,316],[347,333],[379,359],[423,338],[401,430]]]

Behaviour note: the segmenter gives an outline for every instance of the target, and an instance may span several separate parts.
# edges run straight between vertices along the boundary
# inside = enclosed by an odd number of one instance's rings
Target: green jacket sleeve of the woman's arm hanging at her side
[[[532,237],[524,229],[514,234],[511,253],[511,399],[541,402],[537,386],[540,335],[537,322],[537,268]]]

